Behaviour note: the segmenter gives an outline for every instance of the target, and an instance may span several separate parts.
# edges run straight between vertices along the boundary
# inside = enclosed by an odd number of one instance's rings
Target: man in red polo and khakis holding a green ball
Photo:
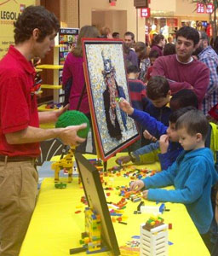
[[[86,125],[43,130],[66,108],[37,113],[32,58],[54,47],[59,21],[42,6],[27,7],[14,24],[15,46],[0,61],[0,255],[16,256],[26,235],[37,197],[34,160],[39,142],[59,137],[70,146],[83,143],[77,131]]]

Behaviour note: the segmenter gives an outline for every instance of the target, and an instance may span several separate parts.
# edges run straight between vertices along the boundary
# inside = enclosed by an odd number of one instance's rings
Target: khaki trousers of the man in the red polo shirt
[[[36,198],[33,161],[0,161],[0,256],[19,255]]]

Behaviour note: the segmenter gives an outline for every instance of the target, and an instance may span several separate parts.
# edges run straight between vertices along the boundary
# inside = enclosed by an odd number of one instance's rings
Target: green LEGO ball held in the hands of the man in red
[[[90,128],[89,119],[82,112],[79,112],[77,110],[68,110],[65,113],[62,113],[60,115],[59,119],[56,122],[55,127],[66,128],[67,126],[70,126],[70,125],[81,125],[84,123],[86,123],[87,126],[86,128],[77,131],[78,137],[83,137],[83,138],[87,137],[89,128]]]

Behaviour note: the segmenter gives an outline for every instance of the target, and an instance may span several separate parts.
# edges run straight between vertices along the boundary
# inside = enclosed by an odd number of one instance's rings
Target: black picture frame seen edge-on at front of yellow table
[[[114,256],[120,255],[118,241],[113,229],[112,219],[106,204],[106,197],[98,170],[83,157],[81,153],[76,153],[77,168],[80,174],[84,193],[89,207],[100,214],[101,239]]]

